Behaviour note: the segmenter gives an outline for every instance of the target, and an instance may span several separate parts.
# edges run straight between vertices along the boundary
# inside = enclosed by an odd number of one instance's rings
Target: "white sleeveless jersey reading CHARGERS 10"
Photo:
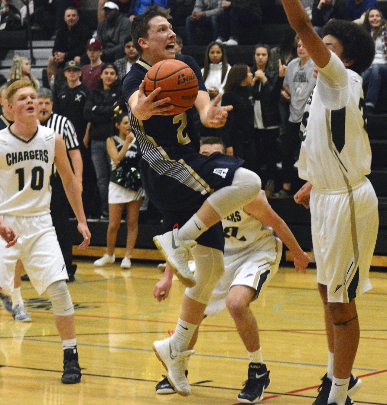
[[[55,132],[38,125],[23,141],[9,128],[0,131],[0,214],[32,217],[50,213],[50,175]]]

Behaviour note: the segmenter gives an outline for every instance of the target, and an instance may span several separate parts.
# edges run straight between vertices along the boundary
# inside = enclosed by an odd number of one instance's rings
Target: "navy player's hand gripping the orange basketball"
[[[137,104],[133,109],[133,114],[137,119],[145,121],[152,115],[171,115],[170,110],[173,105],[164,106],[163,104],[170,102],[170,98],[166,97],[162,100],[154,101],[155,97],[161,92],[161,87],[153,90],[149,96],[144,93],[145,80],[143,80],[138,88]]]

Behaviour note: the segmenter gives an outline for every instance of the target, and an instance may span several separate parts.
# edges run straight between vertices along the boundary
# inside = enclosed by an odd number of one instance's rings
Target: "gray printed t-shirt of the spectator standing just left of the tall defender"
[[[301,122],[305,104],[316,85],[313,77],[315,62],[309,58],[304,66],[300,66],[301,59],[293,59],[287,65],[283,84],[290,89],[290,122]]]

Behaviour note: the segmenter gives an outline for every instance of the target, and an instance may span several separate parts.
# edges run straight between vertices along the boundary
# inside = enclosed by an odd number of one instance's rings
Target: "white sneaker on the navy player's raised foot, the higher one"
[[[157,235],[153,242],[171,266],[177,278],[187,287],[193,287],[196,279],[188,267],[189,251],[196,246],[196,241],[189,239],[183,241],[178,235],[178,229]]]

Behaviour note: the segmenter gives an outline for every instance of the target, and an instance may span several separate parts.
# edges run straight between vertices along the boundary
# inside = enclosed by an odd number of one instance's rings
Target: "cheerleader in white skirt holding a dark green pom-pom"
[[[111,159],[111,176],[109,183],[109,226],[107,232],[108,252],[94,262],[94,266],[105,266],[114,263],[114,248],[117,241],[118,228],[121,225],[122,211],[126,205],[126,237],[125,257],[121,268],[129,269],[130,258],[138,234],[138,214],[144,196],[141,188],[140,171],[136,139],[129,125],[128,114],[119,112],[115,118],[118,135],[106,140],[106,147]]]

